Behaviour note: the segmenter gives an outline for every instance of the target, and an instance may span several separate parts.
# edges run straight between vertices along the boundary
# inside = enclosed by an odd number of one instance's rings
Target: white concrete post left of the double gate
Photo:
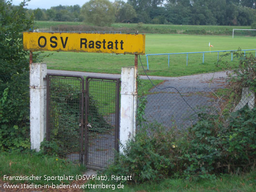
[[[30,64],[30,142],[40,150],[46,134],[46,63]]]

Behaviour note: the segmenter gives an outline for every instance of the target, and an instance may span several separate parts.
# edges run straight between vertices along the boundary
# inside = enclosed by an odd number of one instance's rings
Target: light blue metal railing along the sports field
[[[187,56],[187,61],[186,61],[186,65],[188,66],[188,55],[189,54],[196,54],[196,53],[202,53],[203,54],[203,62],[204,63],[204,59],[205,59],[205,53],[218,53],[217,56],[217,61],[219,61],[219,53],[220,52],[231,52],[231,61],[233,60],[233,52],[236,51],[244,51],[244,56],[246,51],[256,51],[256,49],[242,49],[242,50],[226,50],[226,51],[201,51],[201,52],[186,52],[186,53],[158,53],[158,54],[146,54],[146,58],[147,58],[147,66],[148,66],[148,70],[149,70],[149,56],[152,55],[167,55],[168,56],[168,67],[170,67],[170,55],[179,55],[179,54],[186,54]],[[255,52],[255,57],[256,57],[256,52]]]

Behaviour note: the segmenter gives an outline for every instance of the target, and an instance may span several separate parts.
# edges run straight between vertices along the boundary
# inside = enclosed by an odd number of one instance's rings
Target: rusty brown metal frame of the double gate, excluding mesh
[[[90,166],[88,165],[88,107],[89,107],[89,83],[90,80],[96,79],[98,81],[115,81],[116,82],[116,103],[115,103],[115,141],[114,148],[119,152],[119,129],[120,129],[120,78],[105,78],[105,77],[95,77],[88,76],[86,81],[81,75],[70,75],[70,74],[51,74],[47,73],[46,79],[46,140],[50,141],[50,76],[56,76],[60,78],[77,78],[81,82],[81,100],[80,100],[80,152],[79,152],[79,162],[94,169],[103,169],[100,166]]]

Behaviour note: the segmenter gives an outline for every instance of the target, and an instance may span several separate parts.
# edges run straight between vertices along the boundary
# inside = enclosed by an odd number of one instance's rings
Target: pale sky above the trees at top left
[[[23,0],[13,0],[14,5],[18,5]],[[89,0],[30,0],[28,2],[28,6],[26,8],[28,9],[50,9],[53,6],[58,5],[80,5],[82,6]],[[111,0],[112,1],[112,0]]]

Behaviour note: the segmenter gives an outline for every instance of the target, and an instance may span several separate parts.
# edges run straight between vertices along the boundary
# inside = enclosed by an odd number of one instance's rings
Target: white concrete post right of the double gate
[[[136,70],[134,67],[122,68],[121,71],[121,118],[120,118],[120,152],[123,152],[129,139],[136,132]]]

